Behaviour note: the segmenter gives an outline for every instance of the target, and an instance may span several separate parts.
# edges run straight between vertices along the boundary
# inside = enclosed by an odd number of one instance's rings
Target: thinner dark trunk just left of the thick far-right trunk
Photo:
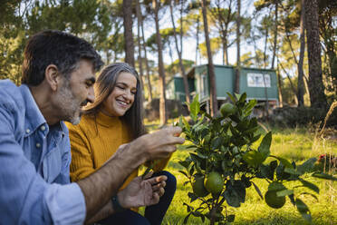
[[[297,82],[297,99],[298,106],[303,106],[304,104],[304,83],[303,83],[303,59],[304,59],[304,50],[305,50],[305,32],[304,32],[304,20],[305,20],[305,9],[304,9],[304,0],[301,0],[301,35],[300,35],[300,58],[297,64],[298,71],[298,82]]]

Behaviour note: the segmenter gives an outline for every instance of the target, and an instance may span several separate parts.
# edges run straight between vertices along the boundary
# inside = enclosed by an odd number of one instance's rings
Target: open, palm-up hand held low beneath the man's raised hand
[[[149,177],[153,172],[150,172],[144,180],[136,177],[130,181],[129,185],[118,192],[117,197],[120,201],[120,206],[125,209],[131,207],[149,206],[159,202],[159,198],[164,194],[166,185],[166,176]]]

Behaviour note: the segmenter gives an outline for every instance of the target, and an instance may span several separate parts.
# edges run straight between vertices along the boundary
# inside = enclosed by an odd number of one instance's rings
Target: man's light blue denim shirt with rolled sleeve
[[[0,224],[82,224],[68,129],[48,126],[26,85],[0,81]]]

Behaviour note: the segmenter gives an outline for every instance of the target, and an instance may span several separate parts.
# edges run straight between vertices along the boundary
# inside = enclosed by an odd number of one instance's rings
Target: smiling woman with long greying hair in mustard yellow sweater
[[[129,64],[105,67],[94,84],[95,102],[89,105],[80,124],[67,124],[72,144],[72,181],[87,177],[111,158],[118,147],[144,134],[140,76]],[[176,178],[163,170],[168,159],[149,162],[153,176],[166,175],[165,193],[158,204],[146,207],[142,217],[138,209],[125,210],[101,220],[101,224],[160,224],[176,191]],[[149,166],[149,165],[148,165]],[[120,189],[135,177],[133,171]]]

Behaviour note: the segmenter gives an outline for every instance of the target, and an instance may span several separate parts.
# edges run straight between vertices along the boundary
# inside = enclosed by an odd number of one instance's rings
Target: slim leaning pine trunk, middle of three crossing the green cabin
[[[207,23],[207,3],[206,0],[201,0],[201,9],[202,16],[204,19],[204,29],[205,29],[205,38],[207,45],[207,57],[208,57],[208,75],[209,75],[209,83],[210,83],[210,108],[211,115],[215,116],[217,113],[217,86],[216,86],[216,73],[214,70],[214,64],[212,59],[212,52],[210,48],[209,42],[209,34],[208,34],[208,23]]]

